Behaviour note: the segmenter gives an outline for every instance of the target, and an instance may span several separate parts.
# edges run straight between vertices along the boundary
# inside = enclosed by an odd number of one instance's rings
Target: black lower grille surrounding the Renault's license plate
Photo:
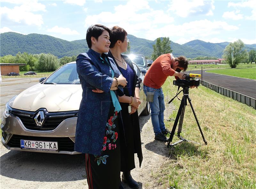
[[[7,145],[9,147],[20,148],[20,140],[41,140],[41,141],[53,141],[58,142],[59,151],[74,152],[74,142],[69,137],[35,137],[35,136],[23,136],[12,135]]]

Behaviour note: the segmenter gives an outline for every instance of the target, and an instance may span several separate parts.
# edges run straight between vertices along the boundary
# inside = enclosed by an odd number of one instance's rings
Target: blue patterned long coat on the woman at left
[[[113,59],[105,54],[100,57],[100,53],[89,49],[87,53],[78,55],[76,59],[76,70],[83,88],[76,124],[75,151],[77,152],[101,154],[110,103],[112,103],[110,88],[113,83],[112,72],[105,58],[114,70],[114,77],[118,78],[120,71]],[[104,93],[92,92],[95,88]]]

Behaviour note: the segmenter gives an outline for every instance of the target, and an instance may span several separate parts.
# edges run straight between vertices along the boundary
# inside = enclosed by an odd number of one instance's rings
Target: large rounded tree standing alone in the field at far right
[[[234,43],[229,43],[224,49],[223,58],[226,58],[226,62],[231,68],[236,68],[237,64],[247,56],[247,52],[243,48],[244,42],[238,39]]]

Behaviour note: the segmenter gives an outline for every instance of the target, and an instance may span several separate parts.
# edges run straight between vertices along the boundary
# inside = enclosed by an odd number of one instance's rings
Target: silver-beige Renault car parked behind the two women
[[[136,64],[133,66],[141,80],[138,112],[148,115],[150,107],[142,86],[144,75]],[[74,142],[82,87],[76,62],[63,65],[39,81],[6,103],[2,144],[10,150],[78,154]]]

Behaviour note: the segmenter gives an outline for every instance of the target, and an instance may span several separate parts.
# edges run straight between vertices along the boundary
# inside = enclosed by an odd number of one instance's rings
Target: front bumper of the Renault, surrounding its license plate
[[[74,151],[77,117],[67,118],[52,131],[33,131],[27,129],[19,117],[10,115],[3,117],[1,123],[2,132],[7,136],[2,137],[2,144],[9,150],[33,151],[59,154],[80,154]],[[20,139],[58,141],[59,151],[36,151],[20,148]]]

